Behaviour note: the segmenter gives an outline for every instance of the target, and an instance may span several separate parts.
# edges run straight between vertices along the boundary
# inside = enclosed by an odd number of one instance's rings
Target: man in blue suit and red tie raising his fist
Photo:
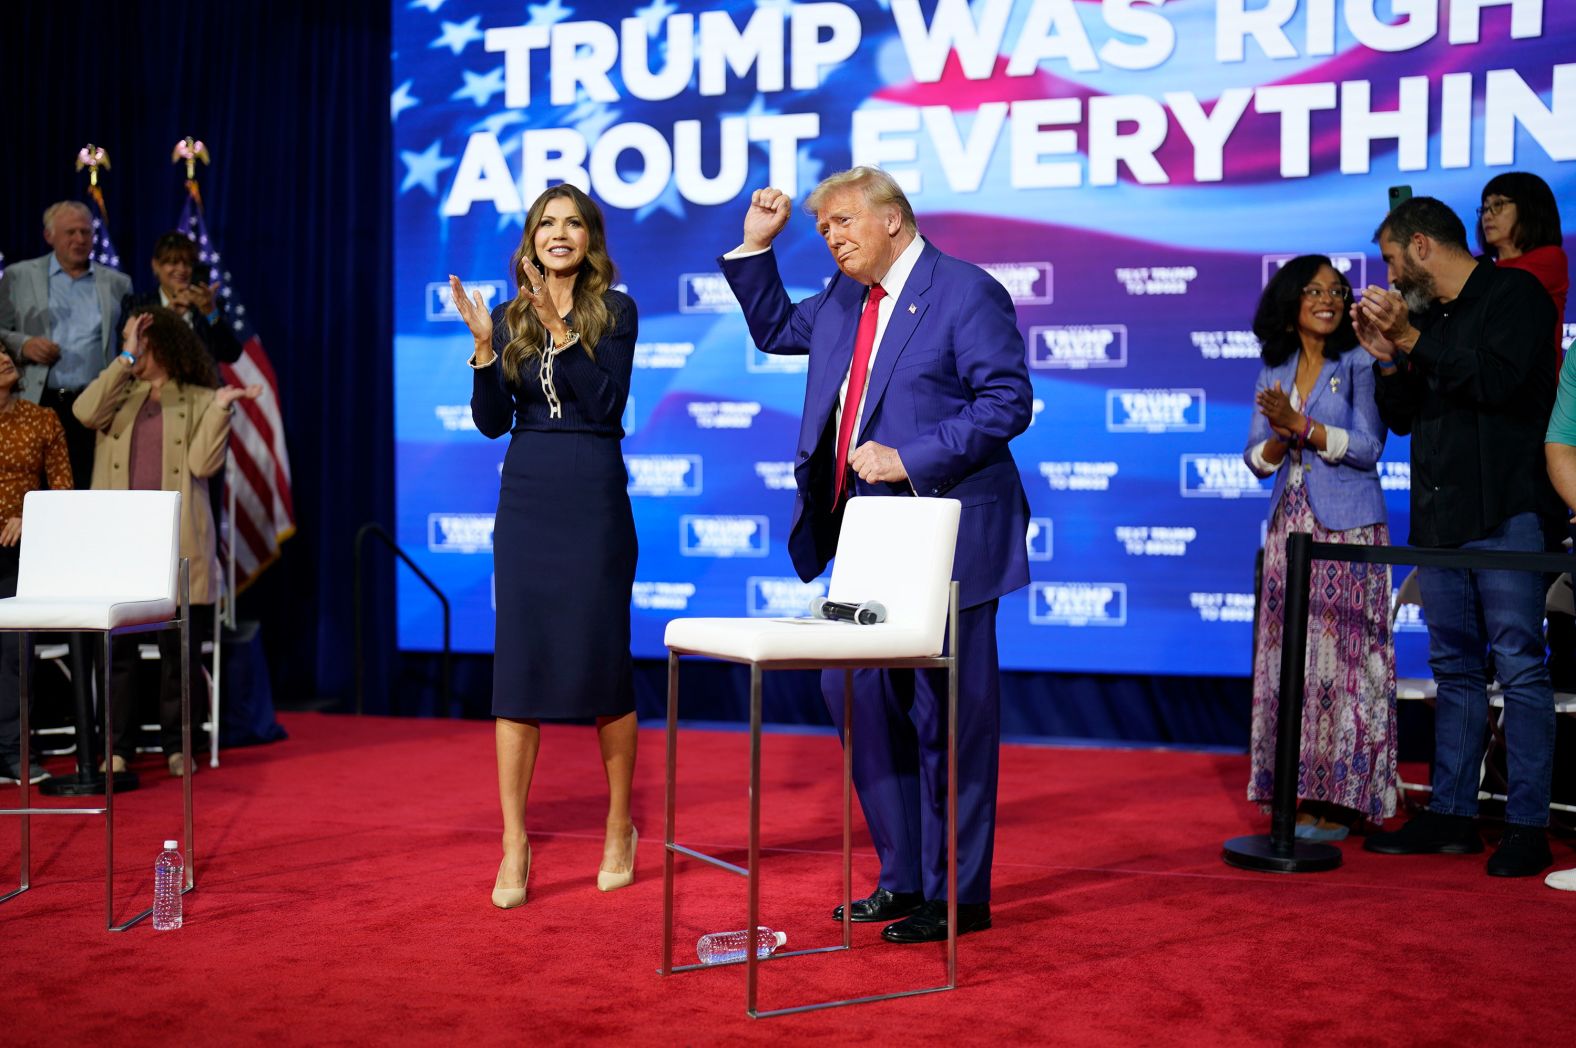
[[[1001,284],[925,241],[886,172],[832,175],[805,211],[837,265],[820,295],[793,303],[783,288],[772,241],[793,202],[777,189],[752,194],[744,243],[720,258],[755,345],[810,358],[788,552],[801,578],[821,574],[853,495],[963,504],[957,931],[980,931],[991,925],[1001,741],[996,605],[1029,582],[1028,500],[1007,451],[1032,413],[1023,336]],[[821,689],[842,723],[842,673]],[[946,939],[946,673],[860,670],[854,695],[854,785],[881,876],[849,917],[889,922],[890,942]]]

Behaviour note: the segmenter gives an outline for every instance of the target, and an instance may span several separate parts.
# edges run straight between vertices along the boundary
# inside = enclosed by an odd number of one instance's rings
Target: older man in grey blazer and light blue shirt
[[[93,214],[84,203],[50,205],[44,243],[50,254],[17,262],[0,277],[0,344],[22,370],[17,396],[60,416],[72,479],[87,487],[93,432],[77,422],[71,403],[115,356],[131,277],[93,263]]]

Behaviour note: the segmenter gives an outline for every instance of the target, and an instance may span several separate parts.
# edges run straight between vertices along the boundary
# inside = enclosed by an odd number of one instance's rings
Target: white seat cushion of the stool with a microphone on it
[[[670,651],[734,662],[931,659],[931,630],[832,619],[673,619],[662,637]]]

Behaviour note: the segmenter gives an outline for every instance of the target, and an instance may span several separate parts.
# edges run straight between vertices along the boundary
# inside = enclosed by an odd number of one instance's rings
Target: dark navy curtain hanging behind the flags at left
[[[388,0],[28,2],[0,20],[8,262],[47,251],[43,210],[84,197],[72,164],[93,142],[121,268],[153,288],[150,251],[184,194],[170,150],[208,143],[208,227],[279,375],[298,528],[241,615],[262,621],[277,701],[347,697],[351,536],[392,518]],[[374,695],[391,626],[386,610],[372,624]]]

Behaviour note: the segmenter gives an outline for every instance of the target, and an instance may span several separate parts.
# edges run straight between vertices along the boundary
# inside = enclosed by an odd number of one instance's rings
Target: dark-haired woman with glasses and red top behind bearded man
[[[1554,361],[1560,361],[1565,296],[1570,293],[1570,258],[1560,232],[1560,206],[1549,183],[1529,172],[1494,175],[1483,186],[1478,214],[1478,247],[1496,265],[1526,269],[1538,277],[1554,299]]]

